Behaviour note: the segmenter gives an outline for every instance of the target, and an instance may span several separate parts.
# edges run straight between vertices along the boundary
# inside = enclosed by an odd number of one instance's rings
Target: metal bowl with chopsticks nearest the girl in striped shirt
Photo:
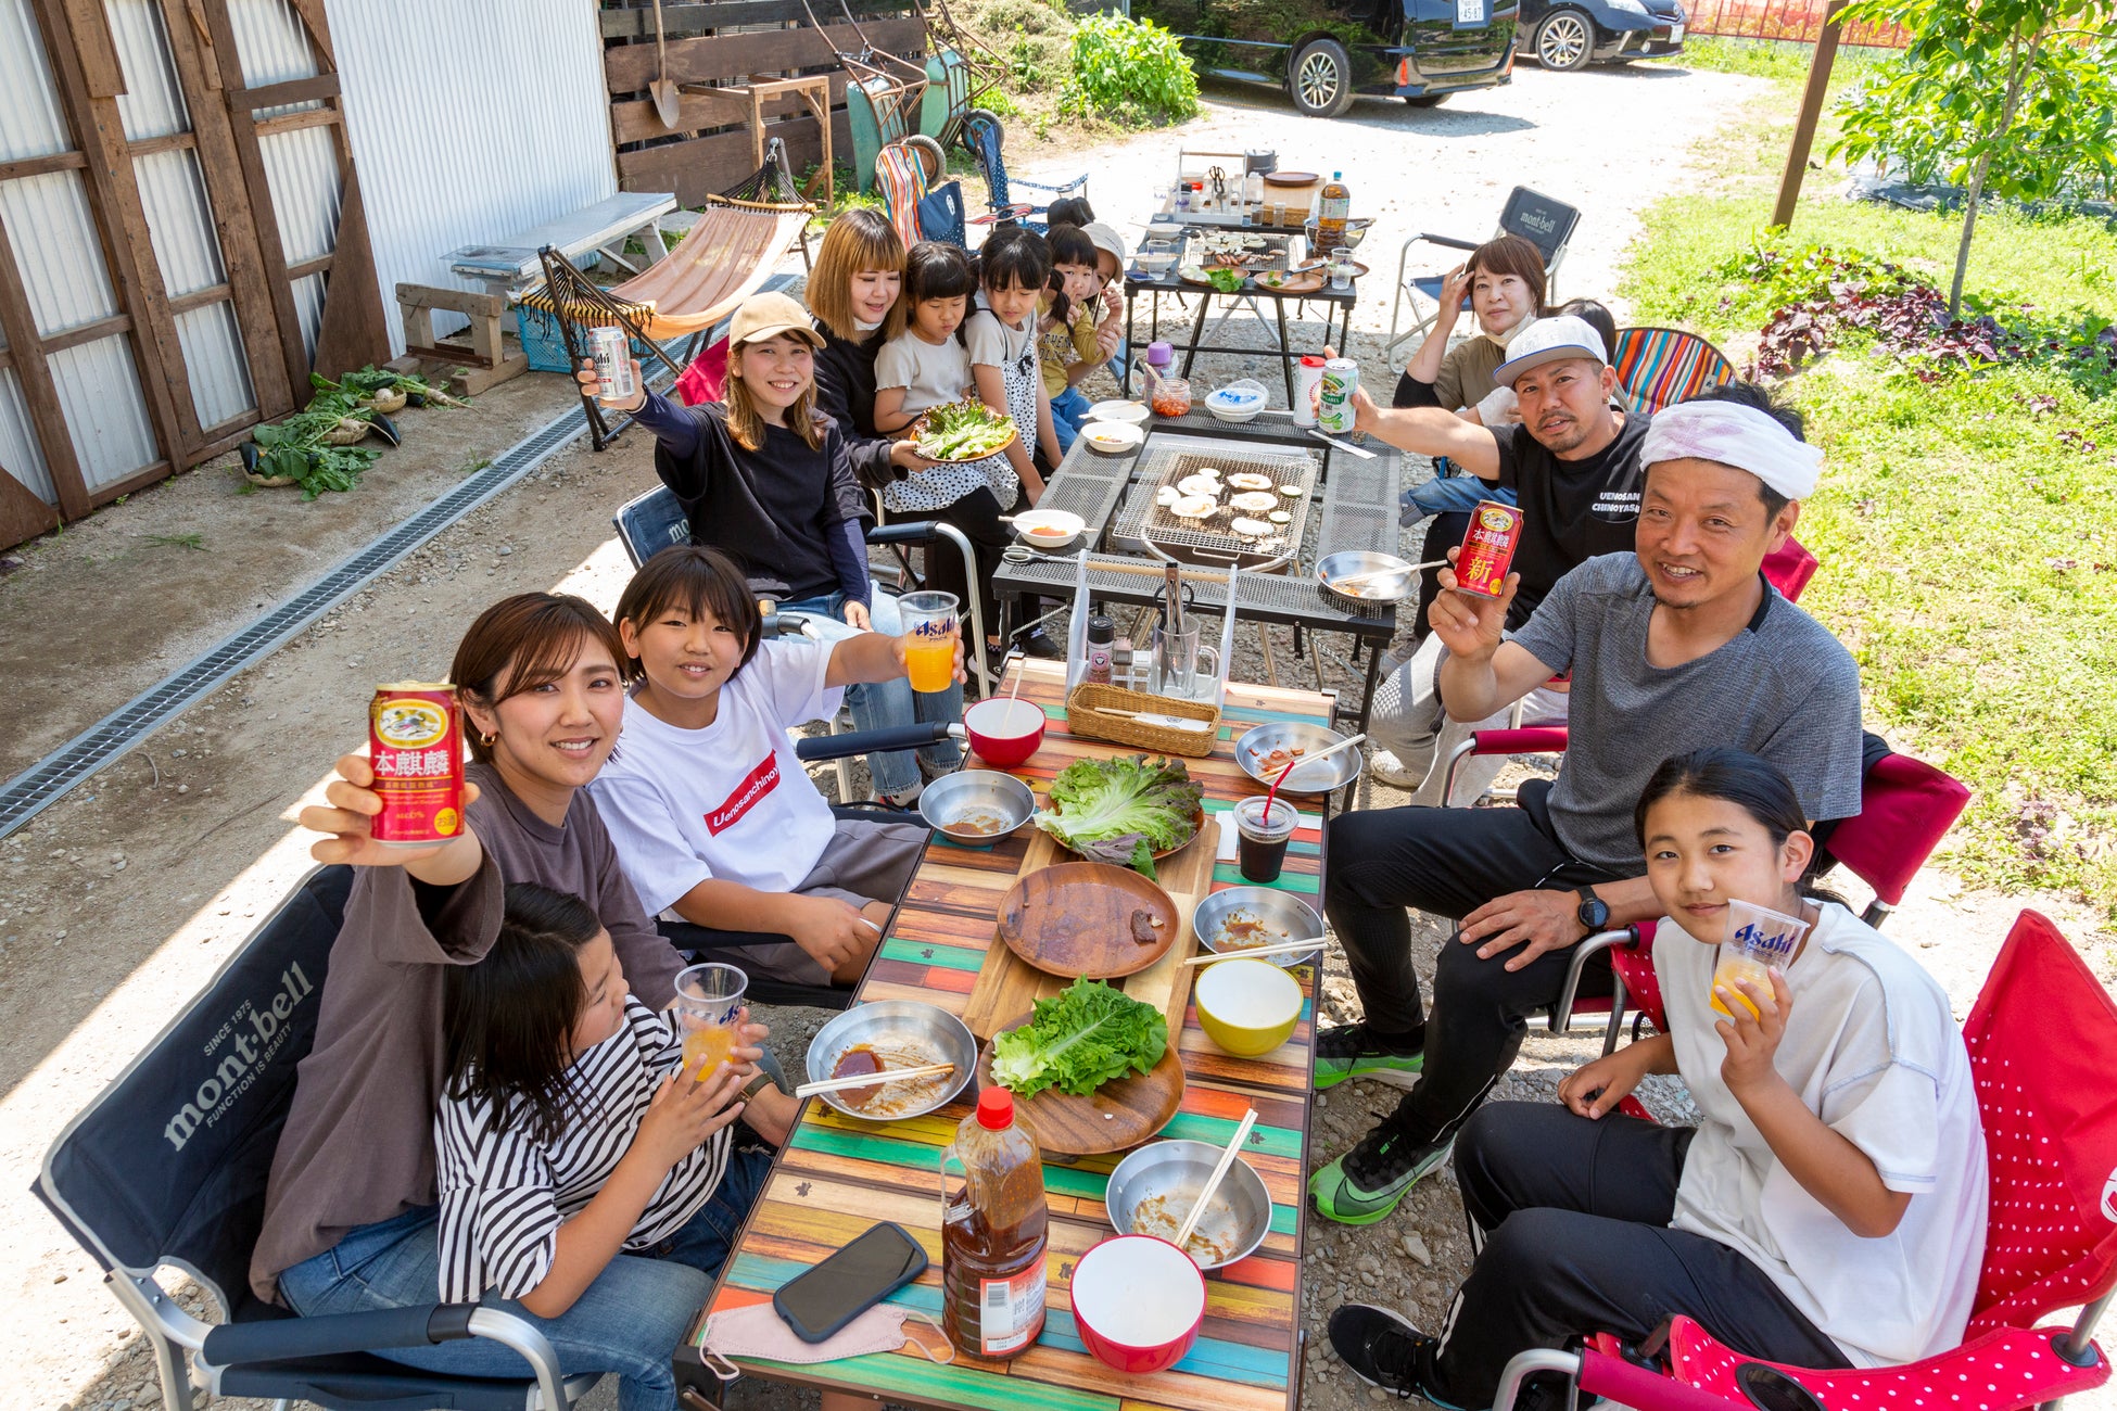
[[[953,1073],[887,1081],[891,1068],[955,1064]],[[809,1041],[807,1083],[874,1073],[874,1085],[817,1094],[847,1117],[904,1121],[944,1106],[978,1070],[978,1041],[938,1005],[879,998],[855,1005],[815,1030]]]

